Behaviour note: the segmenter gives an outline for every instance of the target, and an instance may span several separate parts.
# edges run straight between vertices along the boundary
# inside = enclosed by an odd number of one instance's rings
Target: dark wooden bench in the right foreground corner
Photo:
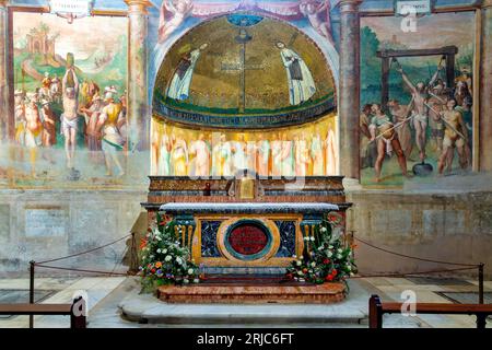
[[[370,328],[383,328],[383,315],[401,313],[403,303],[382,303],[378,295],[371,295]],[[415,303],[415,314],[476,315],[477,328],[485,328],[487,317],[492,315],[492,304]]]

